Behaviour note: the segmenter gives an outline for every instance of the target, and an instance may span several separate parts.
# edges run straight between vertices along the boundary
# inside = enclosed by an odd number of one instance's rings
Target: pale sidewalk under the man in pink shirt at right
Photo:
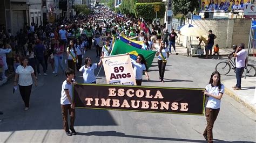
[[[256,113],[256,77],[246,77],[246,79],[243,77],[241,84],[242,90],[232,89],[236,82],[236,78],[222,82],[225,85],[225,94],[231,96],[236,101],[246,106],[246,108]]]

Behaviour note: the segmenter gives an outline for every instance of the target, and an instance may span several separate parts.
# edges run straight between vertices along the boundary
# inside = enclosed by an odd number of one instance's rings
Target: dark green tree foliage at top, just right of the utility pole
[[[172,1],[172,10],[173,14],[177,15],[178,13],[183,14],[186,16],[189,11],[193,12],[195,9],[198,8],[199,1],[193,0],[173,0]]]

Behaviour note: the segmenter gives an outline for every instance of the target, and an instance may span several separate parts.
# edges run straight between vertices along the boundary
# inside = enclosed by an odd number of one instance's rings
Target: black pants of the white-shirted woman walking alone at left
[[[25,107],[29,107],[29,98],[31,94],[32,84],[28,86],[19,85],[19,92],[21,93],[22,99],[25,103]]]

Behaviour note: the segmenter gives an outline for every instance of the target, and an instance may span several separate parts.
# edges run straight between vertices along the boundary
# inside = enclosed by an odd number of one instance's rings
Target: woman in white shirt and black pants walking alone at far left
[[[16,74],[14,78],[14,86],[19,85],[19,92],[21,93],[22,99],[25,103],[25,110],[29,110],[29,99],[32,89],[32,77],[37,86],[36,76],[34,70],[31,66],[28,66],[29,60],[27,58],[21,58],[21,65],[16,69]]]

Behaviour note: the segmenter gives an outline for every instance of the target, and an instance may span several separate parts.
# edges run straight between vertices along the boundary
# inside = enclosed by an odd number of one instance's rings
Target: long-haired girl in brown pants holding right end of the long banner
[[[212,128],[220,111],[220,99],[224,94],[224,88],[224,85],[220,83],[219,72],[214,71],[211,75],[209,84],[206,85],[204,90],[204,95],[208,96],[208,101],[206,102],[205,109],[207,126],[203,135],[208,142],[213,142]]]

